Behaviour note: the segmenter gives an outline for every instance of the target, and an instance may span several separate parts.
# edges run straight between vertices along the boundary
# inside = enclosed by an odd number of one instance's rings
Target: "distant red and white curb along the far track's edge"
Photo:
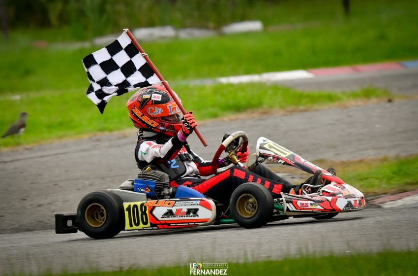
[[[238,75],[219,77],[212,82],[218,83],[248,83],[248,82],[268,82],[268,81],[280,81],[280,80],[293,80],[293,79],[305,79],[313,78],[317,76],[330,76],[341,74],[362,73],[370,71],[382,71],[382,70],[394,70],[404,68],[416,68],[418,67],[418,60],[405,61],[405,62],[392,62],[392,63],[377,63],[366,64],[356,66],[344,66],[344,67],[332,67],[332,68],[318,68],[308,70],[292,70],[292,71],[280,71],[280,72],[268,72],[262,74],[251,75]],[[210,82],[209,80],[203,82]]]

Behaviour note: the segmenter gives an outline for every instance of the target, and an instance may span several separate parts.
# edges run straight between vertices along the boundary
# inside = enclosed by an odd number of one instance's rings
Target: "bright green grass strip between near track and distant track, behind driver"
[[[178,85],[173,88],[185,108],[194,111],[198,121],[259,108],[318,108],[350,100],[391,97],[387,91],[372,87],[347,93],[309,93],[266,84]],[[21,111],[29,113],[27,128],[19,139],[0,139],[0,148],[133,128],[126,108],[132,93],[112,99],[103,115],[85,93],[76,89],[19,95],[20,100],[13,100],[12,97],[16,97],[13,93],[0,96],[0,132],[4,133]]]

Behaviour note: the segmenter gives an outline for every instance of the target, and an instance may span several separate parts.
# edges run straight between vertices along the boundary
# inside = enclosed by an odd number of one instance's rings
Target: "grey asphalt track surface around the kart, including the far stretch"
[[[403,73],[400,73],[403,72]],[[373,84],[417,94],[416,69],[347,75],[349,83]],[[391,79],[388,82],[388,79]],[[303,80],[299,85],[340,87],[344,76]],[[410,87],[404,89],[404,87]],[[296,81],[287,85],[297,87]],[[404,90],[403,90],[404,89]],[[224,133],[243,130],[254,150],[265,136],[305,159],[353,160],[418,153],[418,100],[213,121],[200,130],[209,146],[194,137],[192,147],[211,159]],[[233,128],[231,127],[233,126]],[[82,233],[55,235],[55,212],[74,212],[90,191],[115,188],[137,173],[135,133],[65,141],[0,153],[0,274],[100,268],[113,270],[201,261],[244,261],[285,255],[379,251],[417,247],[417,204],[368,208],[329,221],[289,219],[253,230],[236,225],[178,231],[126,232],[94,241]],[[34,231],[34,232],[28,232]],[[151,249],[152,248],[152,249]],[[349,252],[347,252],[349,251]],[[147,258],[141,257],[147,254]]]

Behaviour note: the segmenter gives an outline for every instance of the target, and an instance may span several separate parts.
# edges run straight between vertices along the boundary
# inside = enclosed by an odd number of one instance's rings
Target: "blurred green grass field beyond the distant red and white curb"
[[[340,1],[285,1],[264,9],[269,26],[301,23],[300,28],[140,43],[168,81],[418,58],[417,1],[352,2],[349,18],[337,12]],[[53,29],[29,29],[0,43],[0,75],[6,80],[0,82],[0,94],[87,89],[81,60],[100,47],[28,46],[47,34],[61,37]]]

